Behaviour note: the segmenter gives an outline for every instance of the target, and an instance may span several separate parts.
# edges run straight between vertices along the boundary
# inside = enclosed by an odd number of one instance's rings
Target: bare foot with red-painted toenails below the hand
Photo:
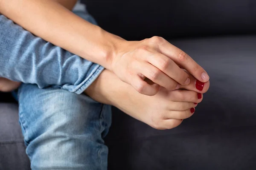
[[[178,90],[160,88],[156,95],[146,96],[105,70],[85,93],[98,102],[119,108],[151,127],[171,129],[193,115],[195,107],[203,99],[203,93],[209,88],[209,82],[203,85],[191,75],[190,79],[189,85],[180,86]]]

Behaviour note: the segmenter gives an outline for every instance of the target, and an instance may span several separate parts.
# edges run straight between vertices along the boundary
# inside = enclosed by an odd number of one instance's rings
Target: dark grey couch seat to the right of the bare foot
[[[255,169],[256,37],[171,42],[206,69],[209,91],[172,130],[154,130],[115,110],[106,139],[109,169]]]

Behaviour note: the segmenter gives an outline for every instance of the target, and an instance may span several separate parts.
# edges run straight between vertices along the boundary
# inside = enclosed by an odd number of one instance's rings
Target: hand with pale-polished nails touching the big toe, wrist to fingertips
[[[162,37],[121,42],[111,63],[111,71],[119,79],[148,96],[157,94],[160,86],[174,90],[188,85],[189,75],[180,67],[201,82],[209,80],[200,65]],[[154,84],[146,83],[145,78]]]

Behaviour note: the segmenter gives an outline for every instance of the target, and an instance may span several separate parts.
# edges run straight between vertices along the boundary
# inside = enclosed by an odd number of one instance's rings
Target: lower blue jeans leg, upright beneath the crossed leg
[[[18,99],[32,170],[107,170],[111,106],[31,84],[21,85]]]

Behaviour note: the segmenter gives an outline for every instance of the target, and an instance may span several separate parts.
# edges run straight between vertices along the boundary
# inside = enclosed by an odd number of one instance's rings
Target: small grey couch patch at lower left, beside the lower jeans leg
[[[0,103],[0,170],[29,170],[17,104]]]

